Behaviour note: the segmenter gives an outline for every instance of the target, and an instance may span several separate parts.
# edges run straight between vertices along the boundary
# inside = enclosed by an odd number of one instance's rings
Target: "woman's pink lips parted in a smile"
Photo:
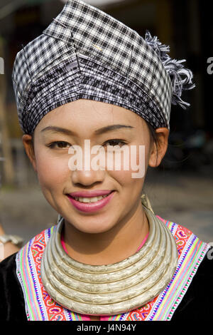
[[[78,194],[82,194],[83,192],[78,192]],[[70,202],[72,203],[72,205],[77,208],[77,210],[80,210],[82,212],[97,212],[97,210],[101,210],[104,206],[106,206],[111,198],[114,196],[115,191],[107,191],[107,194],[109,194],[107,197],[104,197],[104,199],[102,200],[98,200],[97,202],[90,202],[90,203],[84,203],[84,202],[80,202],[75,200],[74,198],[72,198],[70,195],[67,195],[68,199],[70,200]],[[71,193],[73,194],[73,193]],[[75,193],[75,197],[80,195],[76,195],[77,192]],[[85,193],[84,193],[85,194]],[[94,194],[94,192],[93,192]],[[99,194],[99,195],[104,195],[103,193]],[[73,195],[72,195],[73,196]],[[90,197],[95,197],[98,195],[91,195],[90,193]],[[87,197],[88,196],[88,192],[87,192]]]

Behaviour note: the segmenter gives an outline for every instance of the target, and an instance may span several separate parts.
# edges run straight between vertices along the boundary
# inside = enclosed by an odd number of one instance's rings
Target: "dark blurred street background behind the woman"
[[[11,71],[22,45],[40,35],[66,1],[1,0],[0,4],[0,222],[26,242],[54,225],[57,213],[40,191],[23,150]],[[213,242],[213,24],[211,2],[203,0],[91,0],[145,36],[146,29],[187,59],[196,88],[186,91],[187,110],[172,107],[168,152],[150,169],[145,191],[155,214]]]

